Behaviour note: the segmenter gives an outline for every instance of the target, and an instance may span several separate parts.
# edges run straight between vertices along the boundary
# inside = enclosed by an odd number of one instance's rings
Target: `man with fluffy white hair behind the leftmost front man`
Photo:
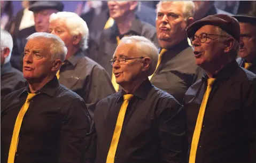
[[[53,13],[50,32],[59,36],[68,48],[64,64],[57,73],[59,83],[79,94],[93,117],[97,102],[115,91],[106,70],[84,56],[89,35],[86,22],[73,12]]]

